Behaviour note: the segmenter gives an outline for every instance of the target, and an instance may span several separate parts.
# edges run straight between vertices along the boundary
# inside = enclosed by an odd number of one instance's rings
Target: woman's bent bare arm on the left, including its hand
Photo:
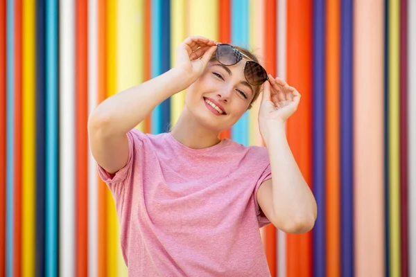
[[[94,159],[114,173],[127,163],[127,132],[141,123],[157,105],[189,87],[205,70],[215,42],[188,37],[177,48],[177,64],[166,73],[104,100],[90,114],[89,144]]]

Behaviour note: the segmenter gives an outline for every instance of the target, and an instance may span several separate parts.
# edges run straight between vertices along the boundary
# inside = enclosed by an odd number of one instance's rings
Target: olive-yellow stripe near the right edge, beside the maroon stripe
[[[390,276],[400,273],[400,182],[399,182],[399,1],[390,0],[389,9],[389,216]]]

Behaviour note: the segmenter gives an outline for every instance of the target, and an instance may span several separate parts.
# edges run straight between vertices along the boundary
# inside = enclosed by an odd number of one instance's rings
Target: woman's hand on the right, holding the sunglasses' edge
[[[280,78],[268,75],[264,83],[263,98],[259,110],[259,128],[265,134],[268,123],[284,123],[295,111],[300,102],[300,93]],[[266,139],[263,136],[263,139]]]

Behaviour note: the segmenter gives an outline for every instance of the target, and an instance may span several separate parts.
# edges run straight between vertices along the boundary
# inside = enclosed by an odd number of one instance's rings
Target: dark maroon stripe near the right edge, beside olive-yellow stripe
[[[408,267],[408,0],[400,1],[400,213],[401,276]]]

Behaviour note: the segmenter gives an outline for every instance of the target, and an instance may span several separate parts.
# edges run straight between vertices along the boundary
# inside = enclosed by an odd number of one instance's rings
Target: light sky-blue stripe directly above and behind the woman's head
[[[248,47],[248,0],[232,0],[231,41],[236,46]],[[232,139],[248,146],[248,111],[231,127]]]

